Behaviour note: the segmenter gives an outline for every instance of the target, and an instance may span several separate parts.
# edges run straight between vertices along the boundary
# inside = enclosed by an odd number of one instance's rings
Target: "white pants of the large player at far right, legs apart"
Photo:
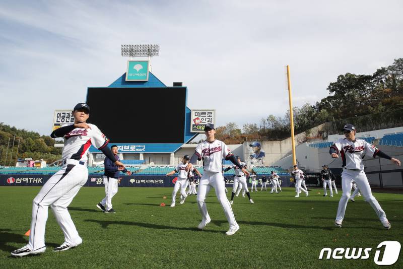
[[[372,195],[371,187],[369,186],[367,176],[364,171],[354,171],[354,170],[343,170],[342,173],[342,189],[343,194],[339,201],[339,208],[337,210],[337,221],[343,221],[344,215],[346,213],[347,202],[349,201],[351,188],[353,182],[356,182],[357,187],[360,189],[364,199],[371,205],[375,210],[376,215],[380,221],[386,221],[386,214],[382,210],[378,201]]]

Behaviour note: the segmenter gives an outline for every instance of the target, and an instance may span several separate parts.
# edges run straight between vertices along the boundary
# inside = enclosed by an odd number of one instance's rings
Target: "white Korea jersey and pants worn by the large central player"
[[[224,142],[215,140],[213,142],[204,141],[197,144],[195,154],[203,159],[203,176],[201,176],[197,189],[197,206],[205,224],[211,221],[207,212],[206,197],[213,187],[218,200],[223,207],[225,217],[230,225],[230,229],[239,229],[229,200],[225,194],[225,182],[222,171],[222,160],[232,155],[231,150]]]

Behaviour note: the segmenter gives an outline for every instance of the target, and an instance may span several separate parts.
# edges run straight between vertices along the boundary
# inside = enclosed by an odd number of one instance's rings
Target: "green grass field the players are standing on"
[[[28,241],[24,233],[38,191],[39,187],[0,187],[2,268],[371,268],[377,266],[373,259],[380,242],[403,241],[402,194],[374,194],[390,230],[383,229],[362,197],[349,202],[343,228],[334,227],[340,191],[333,198],[322,197],[322,189],[299,198],[294,197],[294,188],[284,188],[280,194],[259,191],[251,193],[253,205],[240,195],[232,206],[240,230],[227,236],[228,223],[214,190],[207,199],[212,222],[199,231],[195,195],[170,208],[172,188],[119,188],[112,200],[117,213],[105,214],[95,207],[104,188],[83,187],[69,207],[82,245],[52,251],[63,243],[63,234],[49,209],[46,252],[12,257],[10,252]],[[161,203],[167,206],[160,207]],[[372,247],[372,251],[366,260],[319,260],[324,247]],[[401,253],[390,267],[403,267]]]

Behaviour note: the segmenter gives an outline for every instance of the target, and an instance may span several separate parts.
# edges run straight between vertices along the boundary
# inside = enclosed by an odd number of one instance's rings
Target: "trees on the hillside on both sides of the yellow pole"
[[[293,107],[294,130],[301,133],[331,122],[328,131],[340,131],[346,120],[362,129],[401,125],[403,115],[403,58],[394,59],[372,75],[347,73],[327,87],[328,96],[314,105]],[[290,111],[284,117],[268,115],[240,128],[229,122],[216,128],[217,138],[239,144],[245,140],[282,140],[290,137]]]

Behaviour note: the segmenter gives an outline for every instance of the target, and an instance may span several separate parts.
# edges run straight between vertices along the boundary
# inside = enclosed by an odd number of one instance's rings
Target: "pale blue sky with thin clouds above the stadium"
[[[403,57],[401,1],[3,1],[0,122],[47,134],[55,109],[125,72],[125,43],[157,43],[153,73],[217,124],[314,104],[340,74]],[[125,105],[116,98],[113,106]],[[152,104],[152,102],[150,102]]]

